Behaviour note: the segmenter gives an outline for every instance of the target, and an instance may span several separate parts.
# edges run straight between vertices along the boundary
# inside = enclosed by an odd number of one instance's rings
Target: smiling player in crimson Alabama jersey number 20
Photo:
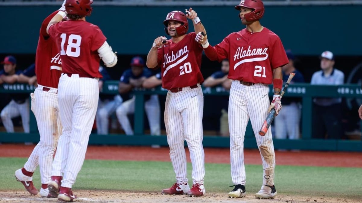
[[[205,194],[203,93],[200,86],[204,81],[200,72],[202,47],[194,40],[196,33],[186,34],[189,29],[188,18],[193,20],[196,32],[204,30],[204,27],[192,8],[187,13],[185,15],[174,10],[167,14],[163,23],[171,39],[159,36],[154,40],[146,65],[148,68],[161,67],[162,87],[168,90],[164,118],[176,183],[162,190],[162,193],[202,196]],[[185,140],[192,163],[191,189],[186,176]]]

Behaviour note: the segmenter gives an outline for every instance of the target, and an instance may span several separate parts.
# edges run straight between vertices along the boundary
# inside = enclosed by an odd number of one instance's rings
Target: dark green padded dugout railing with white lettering
[[[34,87],[26,84],[0,85],[0,93],[9,92],[33,92]],[[103,86],[103,93],[118,94],[118,81],[107,81]],[[89,144],[108,145],[140,145],[150,146],[159,144],[167,146],[166,136],[150,136],[144,134],[144,96],[150,94],[166,95],[167,90],[156,87],[151,90],[135,90],[135,113],[134,113],[134,136],[123,134],[97,135],[91,134]],[[203,94],[213,96],[228,95],[229,92],[222,87],[205,88]],[[273,95],[270,86],[269,96]],[[289,86],[284,97],[302,98],[302,136],[298,140],[274,139],[275,148],[300,149],[300,150],[326,150],[326,151],[362,151],[362,140],[334,140],[334,139],[312,139],[312,110],[314,97],[342,97],[342,98],[362,98],[362,90],[359,85],[310,85],[308,83],[292,84]],[[207,100],[205,102],[208,102]],[[163,113],[163,112],[161,112]],[[355,112],[357,114],[357,112]],[[39,134],[33,113],[30,113],[30,133],[0,133],[0,143],[24,143],[38,142]],[[162,121],[161,121],[162,122]],[[203,145],[205,147],[229,147],[230,138],[204,136]],[[245,141],[245,148],[257,148],[251,126],[248,125]]]

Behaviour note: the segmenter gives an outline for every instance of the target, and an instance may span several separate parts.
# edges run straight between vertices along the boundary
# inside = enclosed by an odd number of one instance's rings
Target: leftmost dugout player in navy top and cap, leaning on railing
[[[35,75],[34,66],[30,66],[24,72],[16,70],[16,59],[14,56],[6,56],[4,61],[4,70],[0,71],[0,84],[13,84],[18,82],[19,75],[24,74],[28,77]],[[8,133],[14,133],[14,125],[12,118],[21,116],[21,122],[25,133],[29,133],[29,94],[10,93],[11,101],[1,111],[0,116],[4,127]]]

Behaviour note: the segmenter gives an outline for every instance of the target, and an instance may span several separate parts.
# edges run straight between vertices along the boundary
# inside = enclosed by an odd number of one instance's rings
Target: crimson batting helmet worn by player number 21
[[[241,0],[239,5],[235,6],[235,9],[240,10],[241,7],[254,9],[244,15],[247,21],[259,20],[264,15],[264,4],[261,0]]]

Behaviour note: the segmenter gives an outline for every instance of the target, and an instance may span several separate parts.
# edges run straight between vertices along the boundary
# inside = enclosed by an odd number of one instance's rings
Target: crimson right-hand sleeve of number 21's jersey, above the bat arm
[[[289,63],[287,54],[285,53],[282,41],[278,36],[272,38],[271,46],[269,47],[269,59],[271,68],[275,69]]]

